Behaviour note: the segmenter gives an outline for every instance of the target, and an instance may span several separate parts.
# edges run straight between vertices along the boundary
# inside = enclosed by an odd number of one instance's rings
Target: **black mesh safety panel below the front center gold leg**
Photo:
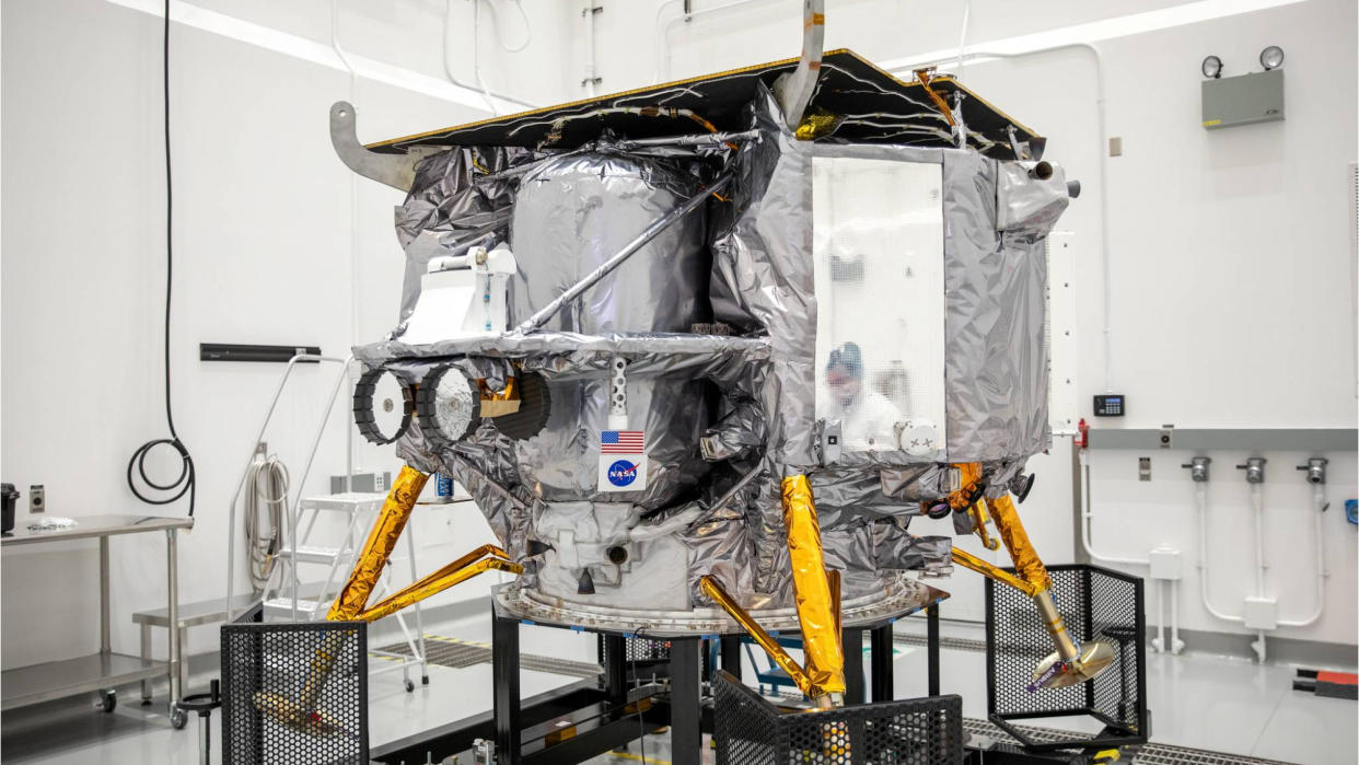
[[[713,696],[719,765],[962,764],[958,696],[780,712],[720,670]]]

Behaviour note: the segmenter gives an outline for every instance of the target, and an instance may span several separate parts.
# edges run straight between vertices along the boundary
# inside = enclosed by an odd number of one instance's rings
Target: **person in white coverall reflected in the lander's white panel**
[[[863,352],[855,342],[845,342],[830,352],[826,361],[825,406],[818,409],[826,420],[840,420],[845,450],[894,450],[896,424],[901,412],[885,395],[863,385]]]

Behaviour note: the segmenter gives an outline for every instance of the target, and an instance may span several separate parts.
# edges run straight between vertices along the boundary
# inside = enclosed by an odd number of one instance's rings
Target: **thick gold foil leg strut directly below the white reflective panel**
[[[817,505],[806,476],[783,480],[783,524],[788,534],[792,591],[802,625],[807,677],[813,686],[839,698],[845,690],[844,648],[840,645],[839,617],[832,607],[830,583],[821,552]]]

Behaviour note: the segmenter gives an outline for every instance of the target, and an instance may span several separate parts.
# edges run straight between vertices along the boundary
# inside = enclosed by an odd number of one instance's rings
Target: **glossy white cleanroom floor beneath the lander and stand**
[[[916,624],[911,628],[919,626]],[[905,629],[905,628],[902,628]],[[434,625],[431,633],[466,640],[489,640],[488,620]],[[945,635],[976,637],[976,632],[945,625]],[[572,660],[595,660],[590,635],[549,628],[523,628],[522,650]],[[905,698],[925,693],[924,647],[898,645],[896,692]],[[1352,671],[1352,669],[1351,669]],[[969,717],[985,719],[985,666],[978,652],[945,650],[940,655],[942,690],[964,698]],[[491,708],[489,664],[453,670],[429,669],[428,686],[406,693],[401,675],[382,674],[370,685],[370,736],[374,746],[404,738]],[[1152,711],[1152,741],[1231,754],[1306,765],[1359,761],[1354,701],[1318,698],[1294,692],[1294,669],[1256,666],[1246,660],[1204,655],[1151,655],[1147,678]],[[578,678],[535,671],[522,673],[522,693],[531,696]],[[96,712],[94,698],[52,702],[7,712],[0,724],[0,757],[5,762],[141,764],[197,762],[198,720],[182,731],[163,715],[163,694],[154,707],[137,705],[137,690],[122,690],[111,715]],[[213,716],[213,762],[220,738]],[[1051,723],[1042,723],[1052,726]],[[648,760],[666,755],[662,742],[651,742]],[[640,760],[633,754],[609,762]],[[602,760],[605,761],[605,760]]]

